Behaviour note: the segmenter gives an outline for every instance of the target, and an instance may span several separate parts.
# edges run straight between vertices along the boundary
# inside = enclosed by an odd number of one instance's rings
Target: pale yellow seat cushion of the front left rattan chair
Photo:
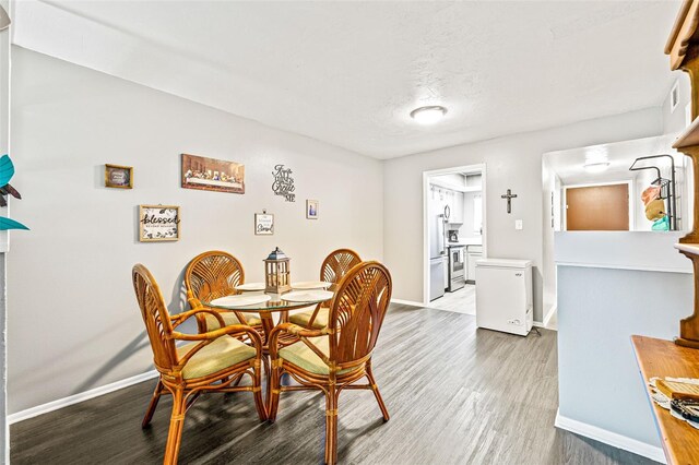
[[[177,347],[177,357],[182,358],[199,342]],[[232,367],[245,360],[254,358],[254,348],[230,336],[221,336],[213,343],[201,348],[187,361],[182,369],[182,378],[201,378]]]

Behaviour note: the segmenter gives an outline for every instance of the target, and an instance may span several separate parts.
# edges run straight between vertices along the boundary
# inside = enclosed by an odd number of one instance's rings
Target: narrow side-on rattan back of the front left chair
[[[155,367],[162,373],[168,372],[177,363],[177,355],[175,342],[170,337],[173,323],[163,294],[151,272],[142,264],[134,265],[131,275],[135,298],[151,341]]]

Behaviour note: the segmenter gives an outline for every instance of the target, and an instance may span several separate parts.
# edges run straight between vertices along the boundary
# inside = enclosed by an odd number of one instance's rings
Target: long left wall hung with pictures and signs
[[[317,278],[324,255],[350,247],[382,259],[382,166],[307,138],[13,48],[12,139],[23,200],[8,260],[9,413],[152,369],[131,266],[182,308],[188,261],[211,249],[237,255],[247,281],[280,246],[296,279]],[[176,75],[173,79],[177,79]],[[180,154],[246,165],[246,194],[181,189]],[[106,189],[104,164],[134,167],[133,190]],[[272,169],[293,169],[295,203],[272,194]],[[320,201],[307,220],[305,200]],[[181,206],[181,239],[137,241],[137,206]],[[253,214],[276,233],[254,236]]]

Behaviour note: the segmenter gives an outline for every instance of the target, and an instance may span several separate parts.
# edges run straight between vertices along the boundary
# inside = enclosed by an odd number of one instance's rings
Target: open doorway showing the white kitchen
[[[485,164],[423,172],[424,306],[475,314],[475,264],[487,255]]]

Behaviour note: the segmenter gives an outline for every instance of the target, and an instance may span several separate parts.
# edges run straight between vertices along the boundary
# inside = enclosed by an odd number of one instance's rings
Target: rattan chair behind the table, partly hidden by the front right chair
[[[362,263],[359,254],[351,249],[330,252],[320,266],[320,281],[337,284],[350,270]],[[322,329],[328,325],[329,302],[318,303],[315,309],[289,315],[288,321],[304,327]]]

